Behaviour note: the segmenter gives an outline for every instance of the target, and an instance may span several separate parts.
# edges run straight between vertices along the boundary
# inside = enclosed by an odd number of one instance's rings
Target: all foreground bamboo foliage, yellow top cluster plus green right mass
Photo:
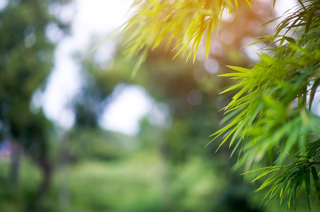
[[[273,1],[273,6],[275,6]],[[251,1],[242,4],[251,5]],[[219,25],[223,10],[233,13],[240,9],[238,1],[135,1],[139,9],[127,22],[124,39],[127,55],[140,55],[137,67],[145,60],[148,49],[163,40],[167,48],[174,46],[177,54],[194,51],[195,60],[205,35],[205,55],[208,58],[211,33]],[[228,66],[236,83],[222,93],[236,91],[224,108],[224,126],[214,133],[214,139],[234,146],[239,164],[246,169],[267,166],[255,180],[266,177],[261,190],[271,185],[270,199],[280,196],[290,207],[296,203],[302,185],[306,188],[311,209],[311,187],[320,192],[316,168],[318,162],[319,117],[312,112],[319,78],[318,1],[299,0],[294,12],[277,26],[275,33],[260,37],[257,43],[268,45],[259,54],[252,68]],[[278,18],[273,19],[276,21]],[[191,48],[189,48],[191,47]],[[249,171],[252,173],[253,171]],[[313,183],[310,178],[312,176]],[[267,196],[266,196],[267,197]]]

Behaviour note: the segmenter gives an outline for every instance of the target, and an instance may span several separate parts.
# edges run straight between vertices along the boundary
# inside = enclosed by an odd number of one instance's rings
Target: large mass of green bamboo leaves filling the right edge
[[[320,134],[320,119],[311,111],[320,85],[320,5],[299,1],[297,8],[274,35],[260,39],[270,45],[264,48],[267,53],[259,54],[258,63],[250,69],[228,66],[236,72],[221,75],[237,81],[222,93],[237,93],[224,108],[225,126],[212,136],[213,140],[223,136],[220,146],[230,141],[233,153],[239,152],[240,165],[248,169],[268,165],[255,179],[268,175],[258,191],[272,185],[270,199],[287,198],[290,206],[291,197],[295,203],[304,184],[311,208],[310,172],[319,192],[319,163],[310,158],[318,151]]]

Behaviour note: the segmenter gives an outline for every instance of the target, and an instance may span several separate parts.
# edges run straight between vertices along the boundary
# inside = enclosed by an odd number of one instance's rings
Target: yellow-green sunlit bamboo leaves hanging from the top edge
[[[135,0],[132,7],[139,9],[123,30],[127,34],[122,43],[126,48],[124,53],[129,58],[140,54],[134,72],[144,62],[148,51],[161,43],[167,48],[175,46],[170,50],[176,50],[176,56],[180,53],[187,55],[187,60],[194,51],[194,61],[200,41],[205,36],[208,58],[211,34],[219,28],[223,11],[232,13],[242,4],[250,6],[252,0]]]

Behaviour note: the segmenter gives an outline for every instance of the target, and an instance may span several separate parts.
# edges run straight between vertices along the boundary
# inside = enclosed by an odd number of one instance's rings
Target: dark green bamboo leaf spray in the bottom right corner
[[[301,187],[306,190],[306,197],[309,209],[311,210],[311,181],[316,189],[318,198],[320,199],[320,182],[315,166],[320,165],[319,161],[320,139],[307,144],[301,151],[295,153],[293,157],[295,162],[288,165],[269,166],[246,172],[244,174],[253,173],[263,170],[252,182],[268,175],[261,186],[256,190],[260,191],[268,186],[271,186],[264,199],[269,198],[266,203],[277,197],[280,197],[280,202],[286,199],[285,205],[290,208],[293,200],[294,208],[298,199]],[[269,196],[269,197],[268,197]]]

